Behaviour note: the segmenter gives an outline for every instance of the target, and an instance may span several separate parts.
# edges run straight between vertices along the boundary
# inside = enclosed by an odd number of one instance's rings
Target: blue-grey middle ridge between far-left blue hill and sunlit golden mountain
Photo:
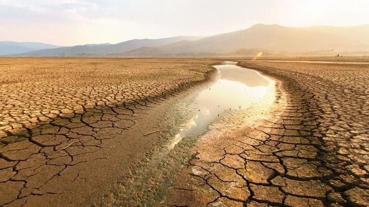
[[[55,49],[45,49],[17,54],[19,56],[89,56],[89,55],[109,55],[113,53],[126,52],[141,47],[157,47],[183,40],[197,40],[201,37],[178,36],[162,39],[134,39],[118,44],[89,44],[77,45],[73,47],[63,47]]]

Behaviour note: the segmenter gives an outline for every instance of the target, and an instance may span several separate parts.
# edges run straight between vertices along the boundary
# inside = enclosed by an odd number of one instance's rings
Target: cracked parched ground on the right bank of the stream
[[[277,79],[267,118],[193,149],[168,206],[369,206],[369,66],[240,63]]]

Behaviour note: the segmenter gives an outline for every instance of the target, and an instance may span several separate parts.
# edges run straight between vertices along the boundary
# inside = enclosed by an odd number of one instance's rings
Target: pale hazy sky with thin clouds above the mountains
[[[213,35],[254,24],[369,24],[369,0],[0,0],[0,41],[56,45]]]

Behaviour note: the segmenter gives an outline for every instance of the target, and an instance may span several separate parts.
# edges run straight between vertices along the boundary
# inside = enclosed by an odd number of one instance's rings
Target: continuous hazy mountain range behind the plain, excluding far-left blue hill
[[[47,48],[18,56],[221,56],[369,51],[369,25],[286,27],[258,24],[207,37],[135,39],[118,44]],[[14,54],[13,52],[11,54]]]

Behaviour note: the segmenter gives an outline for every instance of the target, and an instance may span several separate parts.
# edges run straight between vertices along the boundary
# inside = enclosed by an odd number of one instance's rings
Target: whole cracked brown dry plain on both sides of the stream
[[[0,206],[91,206],[221,60],[1,58]],[[369,65],[238,64],[276,80],[273,105],[205,134],[160,204],[368,206]]]

